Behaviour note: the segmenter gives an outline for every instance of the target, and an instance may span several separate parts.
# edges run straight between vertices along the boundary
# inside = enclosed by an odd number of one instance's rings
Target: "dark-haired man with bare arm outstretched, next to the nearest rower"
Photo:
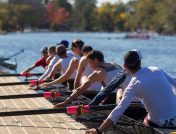
[[[104,55],[101,51],[93,50],[88,56],[88,63],[93,72],[87,77],[87,80],[68,97],[64,102],[54,105],[54,108],[68,105],[71,101],[83,94],[93,83],[101,83],[103,87],[110,82],[119,69],[111,64],[104,62]]]

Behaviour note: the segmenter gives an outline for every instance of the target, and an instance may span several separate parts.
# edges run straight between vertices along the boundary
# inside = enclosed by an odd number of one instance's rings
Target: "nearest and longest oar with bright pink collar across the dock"
[[[35,109],[35,110],[22,110],[22,111],[10,111],[0,112],[0,116],[22,116],[22,115],[37,115],[37,114],[54,114],[54,113],[67,113],[67,114],[80,114],[88,113],[90,110],[112,110],[116,105],[101,105],[101,106],[68,106],[57,109]]]

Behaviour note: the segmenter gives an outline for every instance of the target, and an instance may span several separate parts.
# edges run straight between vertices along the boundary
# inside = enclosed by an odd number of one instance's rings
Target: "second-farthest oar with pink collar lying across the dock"
[[[16,86],[16,85],[39,85],[44,82],[50,82],[51,80],[31,80],[31,81],[24,81],[24,82],[7,82],[7,83],[0,83],[0,86]]]

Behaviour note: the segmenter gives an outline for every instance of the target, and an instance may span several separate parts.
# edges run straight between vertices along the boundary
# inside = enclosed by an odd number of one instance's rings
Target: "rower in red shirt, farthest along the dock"
[[[39,66],[42,66],[44,69],[46,69],[46,66],[47,66],[46,59],[48,57],[48,48],[44,47],[43,49],[41,49],[41,54],[42,54],[42,57],[38,59],[32,66],[25,69],[23,73],[28,73],[34,68],[39,67]]]

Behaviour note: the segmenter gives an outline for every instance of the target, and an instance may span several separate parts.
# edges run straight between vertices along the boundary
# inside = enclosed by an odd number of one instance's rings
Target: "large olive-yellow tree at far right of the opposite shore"
[[[126,28],[147,28],[159,33],[176,33],[175,0],[137,0],[131,5]]]

